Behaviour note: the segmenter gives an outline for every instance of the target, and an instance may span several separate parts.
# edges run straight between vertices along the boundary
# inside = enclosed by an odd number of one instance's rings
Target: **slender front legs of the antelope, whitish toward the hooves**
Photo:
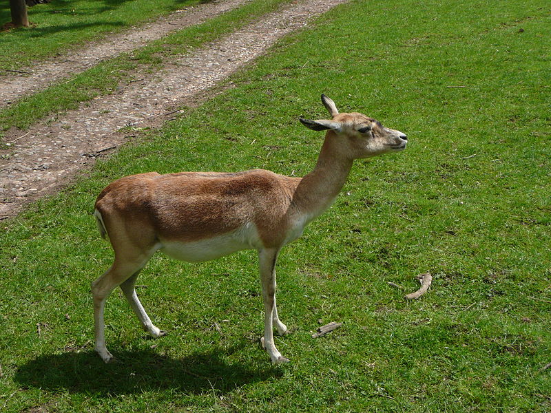
[[[275,321],[278,332],[287,331],[287,327],[279,321],[277,310],[275,310],[275,261],[278,259],[278,253],[278,248],[264,248],[258,251],[260,284],[264,299],[264,347],[270,354],[273,363],[288,363],[289,359],[281,355],[273,342],[273,321]]]

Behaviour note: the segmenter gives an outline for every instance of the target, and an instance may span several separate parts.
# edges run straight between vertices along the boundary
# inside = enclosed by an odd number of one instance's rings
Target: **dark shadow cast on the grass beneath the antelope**
[[[282,374],[268,363],[260,368],[239,361],[227,363],[223,359],[227,354],[226,348],[174,359],[152,350],[125,351],[116,354],[114,363],[105,364],[95,352],[68,352],[28,361],[19,367],[14,380],[25,388],[113,396],[163,389],[228,392]]]

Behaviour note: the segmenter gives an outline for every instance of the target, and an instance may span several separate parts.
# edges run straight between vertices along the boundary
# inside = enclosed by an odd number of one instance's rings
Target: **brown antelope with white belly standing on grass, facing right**
[[[273,341],[287,326],[275,306],[275,261],[285,244],[296,240],[304,226],[333,203],[353,160],[402,151],[407,138],[363,114],[339,114],[333,100],[322,95],[331,120],[300,119],[315,131],[326,130],[318,163],[304,178],[255,169],[238,173],[156,172],[112,182],[96,200],[94,216],[101,235],[109,236],[113,265],[92,283],[95,350],[106,363],[103,310],[116,286],[141,324],[153,337],[159,330],[147,316],[134,286],[139,271],[155,251],[189,262],[202,262],[244,249],[258,251],[264,299],[264,347],[271,361],[285,363]]]

